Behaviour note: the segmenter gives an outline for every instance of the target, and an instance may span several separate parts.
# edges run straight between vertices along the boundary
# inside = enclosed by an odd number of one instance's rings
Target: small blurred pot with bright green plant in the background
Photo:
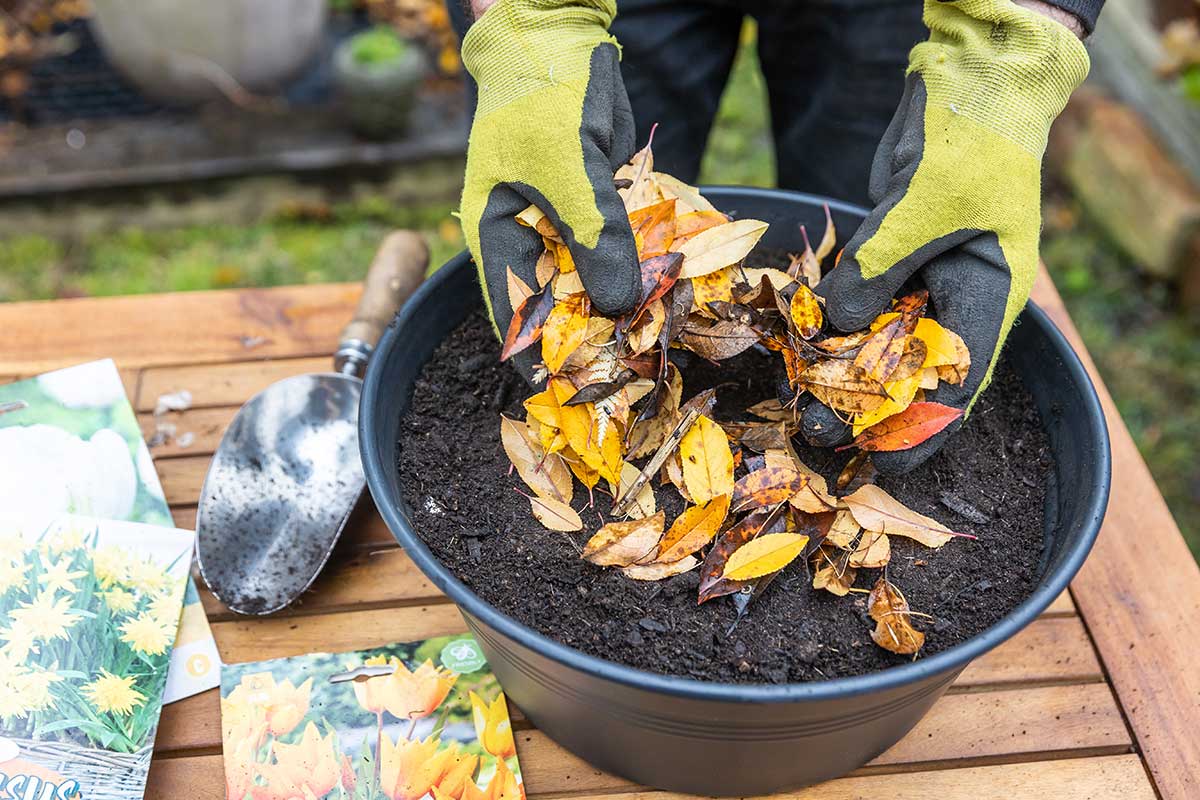
[[[334,53],[334,82],[350,127],[368,139],[390,139],[408,128],[425,73],[421,48],[383,25],[352,36]]]

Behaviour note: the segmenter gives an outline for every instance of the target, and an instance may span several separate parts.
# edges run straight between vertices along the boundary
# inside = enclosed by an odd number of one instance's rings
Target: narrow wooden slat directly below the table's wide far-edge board
[[[152,411],[162,395],[187,390],[192,393],[193,408],[232,405],[236,410],[276,380],[329,372],[332,367],[332,355],[320,355],[145,369],[133,407],[139,411]]]

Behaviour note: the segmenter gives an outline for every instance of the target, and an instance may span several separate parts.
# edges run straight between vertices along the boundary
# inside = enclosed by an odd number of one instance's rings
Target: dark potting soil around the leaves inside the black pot
[[[524,487],[508,474],[499,437],[499,414],[523,419],[521,402],[530,390],[498,357],[487,319],[473,314],[421,372],[397,449],[416,530],[484,600],[584,652],[701,680],[820,680],[911,658],[871,640],[865,593],[835,597],[814,590],[803,561],[787,567],[737,621],[730,597],[696,604],[697,571],[643,583],[581,560],[582,543],[602,524],[599,512],[607,512],[610,498],[595,493],[596,509],[582,513],[586,528],[575,534],[534,521],[529,501],[516,492]],[[781,367],[779,359],[749,351],[720,367],[690,359],[680,368],[685,399],[726,384],[718,390],[718,419],[746,419],[746,407],[774,395]],[[832,487],[850,453],[796,443],[800,458]],[[908,475],[878,479],[907,506],[978,536],[937,551],[892,539],[888,577],[914,612],[930,615],[914,619],[926,634],[922,655],[982,632],[1031,594],[1050,468],[1033,401],[1001,361],[970,421],[940,453]],[[673,487],[656,486],[656,494],[668,522],[683,510]],[[574,506],[587,501],[576,485]],[[859,570],[854,585],[869,589],[880,572]]]

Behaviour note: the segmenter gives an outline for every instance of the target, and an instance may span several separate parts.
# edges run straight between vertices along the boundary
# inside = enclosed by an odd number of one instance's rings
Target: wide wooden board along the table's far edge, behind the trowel
[[[0,344],[0,372],[332,354],[359,294],[359,284],[328,284],[2,303],[0,330],[20,336]]]

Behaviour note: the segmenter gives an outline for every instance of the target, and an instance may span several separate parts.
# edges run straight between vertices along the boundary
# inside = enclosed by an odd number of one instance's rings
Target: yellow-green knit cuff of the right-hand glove
[[[1079,37],[1010,0],[925,0],[926,42],[908,71],[925,82],[929,106],[989,128],[1036,158],[1050,124],[1087,77]]]

